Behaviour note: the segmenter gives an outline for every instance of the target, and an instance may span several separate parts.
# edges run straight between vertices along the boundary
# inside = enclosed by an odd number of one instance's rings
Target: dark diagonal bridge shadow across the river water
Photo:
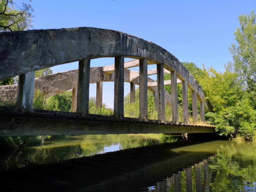
[[[182,139],[11,168],[0,172],[1,191],[154,191],[148,186],[157,183],[159,189],[166,189],[171,178],[179,180],[173,174],[214,156],[216,146],[205,143]]]

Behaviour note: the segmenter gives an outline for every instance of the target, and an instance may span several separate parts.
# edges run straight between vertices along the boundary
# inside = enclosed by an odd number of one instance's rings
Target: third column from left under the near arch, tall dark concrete
[[[125,57],[115,57],[114,115],[124,118],[124,64]]]

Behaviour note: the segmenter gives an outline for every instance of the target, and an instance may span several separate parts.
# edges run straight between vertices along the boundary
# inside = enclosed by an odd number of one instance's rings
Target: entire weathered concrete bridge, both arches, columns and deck
[[[0,136],[122,134],[122,133],[211,133],[214,127],[191,125],[188,89],[191,90],[193,123],[205,121],[211,105],[205,93],[182,63],[152,42],[107,29],[74,28],[0,33],[0,80],[19,75],[17,108],[1,109]],[[90,60],[115,57],[115,65],[91,67]],[[124,58],[134,58],[124,62]],[[35,71],[79,61],[79,69],[35,79]],[[156,64],[156,70],[147,65]],[[126,68],[139,66],[139,72]],[[171,80],[164,81],[164,72]],[[147,76],[157,74],[157,82]],[[97,107],[102,105],[102,82],[114,81],[114,117],[89,114],[89,84],[97,83]],[[124,81],[140,89],[140,117],[124,117]],[[183,123],[179,122],[177,83],[182,83]],[[164,90],[170,84],[172,95]],[[11,87],[15,89],[15,86]],[[40,89],[49,97],[73,89],[73,113],[33,110],[33,93]],[[158,122],[147,118],[147,89],[156,97]],[[165,122],[165,103],[172,107],[172,122]],[[24,128],[26,127],[26,128]],[[36,127],[36,128],[35,128]]]

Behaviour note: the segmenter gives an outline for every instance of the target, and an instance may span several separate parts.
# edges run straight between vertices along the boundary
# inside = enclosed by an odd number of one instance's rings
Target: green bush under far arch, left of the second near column
[[[71,111],[72,91],[65,91],[51,96],[46,101],[46,109],[51,111]]]

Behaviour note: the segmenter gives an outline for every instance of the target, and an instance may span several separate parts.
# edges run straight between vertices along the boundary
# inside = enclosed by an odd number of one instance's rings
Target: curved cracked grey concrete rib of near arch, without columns
[[[199,98],[205,98],[200,85],[175,56],[152,42],[120,31],[80,27],[2,32],[0,38],[0,80],[84,58],[123,55],[163,63],[167,70],[177,71],[177,77],[186,80]],[[211,111],[207,102],[205,109]]]

